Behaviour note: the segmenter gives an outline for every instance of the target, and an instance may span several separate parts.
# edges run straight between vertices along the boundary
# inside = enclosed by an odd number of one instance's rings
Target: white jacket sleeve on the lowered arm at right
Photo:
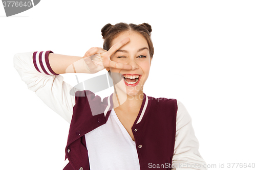
[[[199,142],[195,136],[191,117],[185,106],[177,100],[176,139],[172,167],[176,170],[207,169],[198,149]]]

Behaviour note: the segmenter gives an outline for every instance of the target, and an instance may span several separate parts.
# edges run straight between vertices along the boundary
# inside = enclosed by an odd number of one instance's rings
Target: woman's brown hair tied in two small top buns
[[[150,48],[150,57],[153,58],[154,55],[154,47],[153,43],[151,40],[151,32],[152,28],[151,25],[148,23],[142,23],[140,25],[135,25],[133,23],[130,23],[129,25],[127,23],[117,23],[116,25],[111,25],[110,23],[106,24],[102,29],[101,29],[101,35],[102,38],[104,39],[103,43],[103,49],[106,51],[109,51],[111,41],[115,39],[120,33],[124,31],[135,31],[140,33],[147,41],[148,47]],[[110,70],[109,70],[110,72]]]

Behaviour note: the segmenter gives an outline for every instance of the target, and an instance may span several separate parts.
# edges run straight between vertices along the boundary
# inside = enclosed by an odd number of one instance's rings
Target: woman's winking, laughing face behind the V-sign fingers
[[[111,72],[119,72],[123,75],[122,83],[117,85],[117,88],[126,89],[126,94],[133,96],[143,94],[143,86],[150,74],[151,56],[146,39],[137,32],[125,31],[118,37],[114,38],[111,46],[121,41],[122,39],[130,37],[130,41],[123,45],[114,55],[111,56],[112,61],[123,64],[132,65],[131,70],[110,68]],[[119,86],[119,87],[118,87]]]

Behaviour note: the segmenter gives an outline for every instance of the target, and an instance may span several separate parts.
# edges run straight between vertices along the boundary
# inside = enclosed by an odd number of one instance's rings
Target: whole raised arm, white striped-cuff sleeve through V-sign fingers
[[[76,89],[64,82],[59,74],[95,73],[109,67],[131,69],[131,65],[110,60],[111,55],[129,41],[129,38],[125,38],[109,51],[99,47],[90,48],[83,57],[54,54],[52,51],[18,53],[14,55],[14,67],[28,88],[70,123]]]

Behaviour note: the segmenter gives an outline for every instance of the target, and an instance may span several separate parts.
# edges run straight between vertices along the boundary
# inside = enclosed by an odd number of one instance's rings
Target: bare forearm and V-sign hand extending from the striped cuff
[[[110,60],[110,57],[124,44],[130,41],[130,38],[124,38],[114,44],[109,51],[100,47],[90,48],[83,57],[67,56],[60,54],[49,54],[51,68],[56,74],[65,74],[73,72],[96,73],[109,67],[120,69],[132,69],[131,65],[117,63]]]

